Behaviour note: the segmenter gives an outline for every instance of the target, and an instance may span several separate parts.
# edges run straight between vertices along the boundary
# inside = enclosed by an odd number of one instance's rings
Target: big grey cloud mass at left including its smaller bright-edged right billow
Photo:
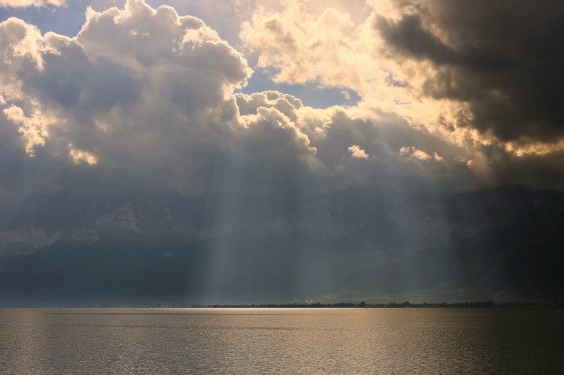
[[[50,163],[54,177],[201,192],[280,188],[322,168],[296,124],[300,100],[235,95],[252,70],[193,16],[130,0],[123,10],[90,9],[76,38],[17,19],[0,32],[10,36],[3,128],[13,130],[14,154]]]

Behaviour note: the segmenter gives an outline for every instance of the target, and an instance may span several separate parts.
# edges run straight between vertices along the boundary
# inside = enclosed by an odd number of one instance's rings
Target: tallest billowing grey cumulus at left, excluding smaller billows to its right
[[[238,124],[230,93],[250,75],[246,60],[172,8],[131,0],[123,10],[89,10],[76,38],[17,19],[0,33],[3,113],[28,155],[45,147],[138,173],[186,158],[186,170],[198,169],[197,156],[215,153]]]

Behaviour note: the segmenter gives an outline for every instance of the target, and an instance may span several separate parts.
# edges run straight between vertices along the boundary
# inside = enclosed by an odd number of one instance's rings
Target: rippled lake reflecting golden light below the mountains
[[[557,308],[0,309],[0,374],[564,374]]]

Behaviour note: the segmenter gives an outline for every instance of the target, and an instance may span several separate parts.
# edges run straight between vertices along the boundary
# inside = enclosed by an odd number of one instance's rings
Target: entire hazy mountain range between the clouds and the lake
[[[562,192],[283,197],[54,194],[10,203],[1,209],[0,302],[562,297]]]

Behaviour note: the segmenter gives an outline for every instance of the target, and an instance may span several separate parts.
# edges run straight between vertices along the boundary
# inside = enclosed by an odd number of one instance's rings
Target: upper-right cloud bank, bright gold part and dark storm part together
[[[399,115],[464,148],[466,162],[495,164],[505,150],[515,163],[558,164],[561,2],[368,1],[363,18],[331,5],[315,12],[315,3],[260,8],[243,23],[243,43],[276,82],[353,89],[362,116]]]

